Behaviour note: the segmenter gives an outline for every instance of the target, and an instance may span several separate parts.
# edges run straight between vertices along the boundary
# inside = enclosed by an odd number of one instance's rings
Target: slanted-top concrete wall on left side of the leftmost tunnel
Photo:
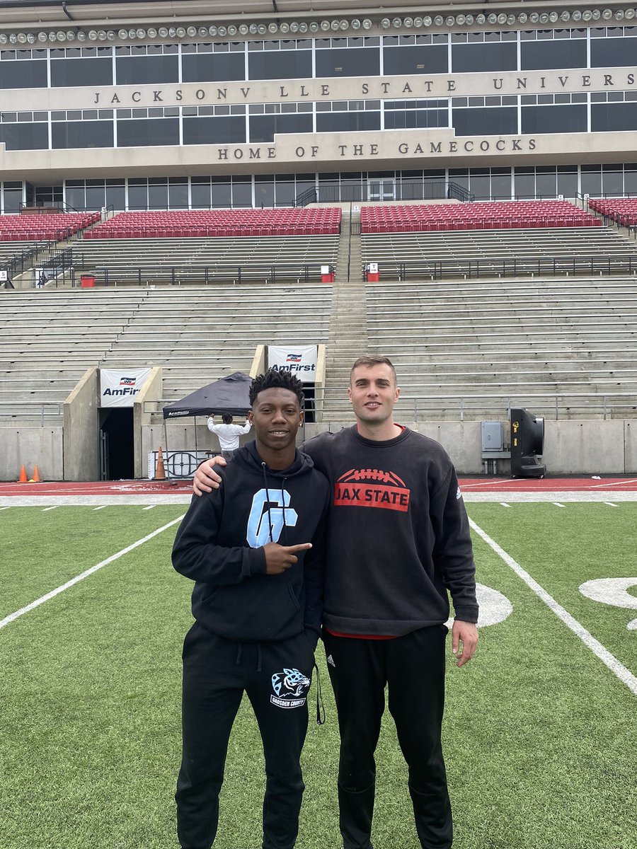
[[[89,368],[64,402],[65,481],[99,480],[98,376]]]

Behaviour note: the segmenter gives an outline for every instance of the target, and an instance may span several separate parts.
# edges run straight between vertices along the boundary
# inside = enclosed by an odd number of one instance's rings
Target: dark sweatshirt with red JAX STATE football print
[[[302,450],[330,481],[324,626],[401,636],[455,616],[477,621],[469,521],[454,466],[436,441],[405,428],[373,441],[356,427]]]

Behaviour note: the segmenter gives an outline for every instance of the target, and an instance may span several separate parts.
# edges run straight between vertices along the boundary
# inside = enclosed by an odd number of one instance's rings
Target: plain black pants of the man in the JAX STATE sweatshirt
[[[323,639],[341,731],[338,798],[345,849],[370,849],[376,767],[374,752],[385,710],[396,723],[409,766],[409,794],[423,849],[449,849],[451,805],[443,761],[443,625],[387,640]]]

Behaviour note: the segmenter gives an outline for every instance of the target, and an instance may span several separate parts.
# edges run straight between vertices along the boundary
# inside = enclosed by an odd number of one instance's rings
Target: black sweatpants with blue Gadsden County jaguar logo
[[[275,643],[235,643],[195,622],[183,643],[183,755],[177,781],[183,849],[210,849],[228,739],[245,691],[265,755],[263,849],[291,849],[305,785],[300,756],[314,663],[305,633]]]

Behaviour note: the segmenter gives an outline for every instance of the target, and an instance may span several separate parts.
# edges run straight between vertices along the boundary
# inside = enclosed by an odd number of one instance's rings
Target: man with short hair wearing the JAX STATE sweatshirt
[[[447,453],[393,420],[400,390],[392,363],[360,357],[348,395],[356,424],[303,447],[332,487],[323,639],[341,732],[343,845],[371,849],[374,752],[387,685],[420,845],[450,849],[444,623],[449,593],[452,648],[463,666],[477,643],[469,523]],[[197,471],[195,492],[218,485],[208,469]]]

